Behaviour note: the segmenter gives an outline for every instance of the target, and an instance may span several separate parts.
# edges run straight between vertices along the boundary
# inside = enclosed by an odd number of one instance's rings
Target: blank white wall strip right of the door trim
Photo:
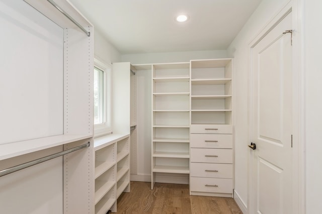
[[[322,1],[303,0],[305,79],[306,213],[322,209]]]

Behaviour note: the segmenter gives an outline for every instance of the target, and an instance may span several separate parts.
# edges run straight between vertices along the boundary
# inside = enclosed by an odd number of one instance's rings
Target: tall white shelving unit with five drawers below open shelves
[[[232,59],[191,61],[190,194],[232,197]]]

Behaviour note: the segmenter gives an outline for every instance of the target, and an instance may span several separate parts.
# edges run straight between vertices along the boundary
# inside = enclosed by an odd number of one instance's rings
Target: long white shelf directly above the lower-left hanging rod
[[[91,138],[93,135],[55,135],[0,145],[0,160]]]

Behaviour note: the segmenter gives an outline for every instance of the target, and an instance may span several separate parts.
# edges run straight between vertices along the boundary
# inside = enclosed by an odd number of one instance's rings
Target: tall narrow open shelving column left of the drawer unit
[[[189,174],[189,67],[152,66],[151,189],[158,173]]]

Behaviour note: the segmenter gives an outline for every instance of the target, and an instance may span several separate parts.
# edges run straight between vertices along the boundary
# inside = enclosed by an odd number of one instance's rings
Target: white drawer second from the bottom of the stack
[[[232,178],[232,164],[190,163],[190,176]]]

